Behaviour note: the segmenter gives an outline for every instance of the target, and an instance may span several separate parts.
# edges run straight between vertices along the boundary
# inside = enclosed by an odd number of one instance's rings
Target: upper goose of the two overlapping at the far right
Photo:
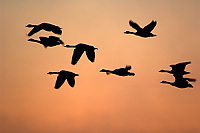
[[[170,65],[170,67],[172,68],[171,71],[169,70],[160,70],[159,72],[167,72],[170,74],[178,74],[178,75],[185,75],[185,74],[189,74],[190,72],[186,72],[185,71],[185,67],[186,65],[190,64],[191,62],[181,62],[181,63],[177,63],[175,65]]]

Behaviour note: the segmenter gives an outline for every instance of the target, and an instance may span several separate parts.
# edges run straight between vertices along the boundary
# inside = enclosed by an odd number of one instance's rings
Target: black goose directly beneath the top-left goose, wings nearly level
[[[35,39],[30,38],[30,39],[28,39],[28,41],[40,43],[45,48],[54,47],[54,46],[60,45],[60,44],[62,44],[64,46],[64,42],[62,40],[60,40],[59,37],[49,36],[49,38],[48,37],[39,37],[39,38],[40,38],[40,40],[35,40]]]

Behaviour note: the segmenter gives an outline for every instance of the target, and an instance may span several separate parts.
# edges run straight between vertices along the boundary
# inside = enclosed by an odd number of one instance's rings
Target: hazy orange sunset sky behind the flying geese
[[[0,131],[2,133],[199,133],[200,1],[198,0],[1,0]],[[126,35],[152,20],[153,38]],[[28,42],[27,24],[62,27],[65,44],[98,48],[71,65],[73,49]],[[40,31],[31,38],[51,36]],[[179,89],[170,64],[191,61],[193,89]],[[131,65],[134,77],[99,71]],[[78,73],[76,84],[54,89],[56,75]]]

